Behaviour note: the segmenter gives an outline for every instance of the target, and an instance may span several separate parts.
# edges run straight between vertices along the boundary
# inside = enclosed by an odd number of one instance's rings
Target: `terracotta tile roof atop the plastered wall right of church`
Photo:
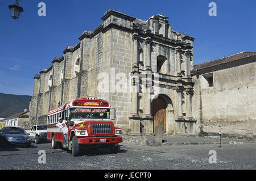
[[[226,64],[228,62],[233,62],[233,61],[236,61],[236,60],[241,60],[241,59],[249,58],[249,57],[255,57],[255,59],[256,59],[256,52],[240,52],[240,53],[232,54],[228,57],[223,57],[223,58],[219,58],[219,59],[216,59],[216,60],[207,61],[207,62],[204,62],[202,64],[194,65],[193,70],[195,70],[195,69],[200,70],[200,69],[210,68],[212,66]]]

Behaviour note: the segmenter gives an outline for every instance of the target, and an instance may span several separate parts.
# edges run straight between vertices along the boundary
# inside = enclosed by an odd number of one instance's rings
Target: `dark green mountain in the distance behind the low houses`
[[[13,95],[0,93],[0,117],[7,117],[15,113],[28,110],[30,95]]]

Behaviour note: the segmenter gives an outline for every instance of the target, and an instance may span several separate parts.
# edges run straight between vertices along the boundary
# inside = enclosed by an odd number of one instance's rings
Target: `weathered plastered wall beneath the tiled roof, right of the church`
[[[255,137],[256,63],[226,67],[213,72],[213,87],[203,75],[193,77],[193,116],[197,133]]]

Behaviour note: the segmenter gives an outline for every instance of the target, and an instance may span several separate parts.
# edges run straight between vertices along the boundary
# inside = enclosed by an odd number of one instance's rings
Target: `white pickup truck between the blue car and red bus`
[[[47,125],[33,125],[30,130],[26,132],[32,138],[32,141],[35,141],[35,144],[44,142],[47,140]]]

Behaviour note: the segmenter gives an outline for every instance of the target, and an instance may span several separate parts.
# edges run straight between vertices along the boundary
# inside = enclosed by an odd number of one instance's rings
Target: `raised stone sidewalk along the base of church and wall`
[[[221,138],[222,144],[245,144],[255,141]],[[154,146],[155,136],[123,136],[124,144]],[[163,145],[206,145],[220,144],[220,137],[163,136]]]

